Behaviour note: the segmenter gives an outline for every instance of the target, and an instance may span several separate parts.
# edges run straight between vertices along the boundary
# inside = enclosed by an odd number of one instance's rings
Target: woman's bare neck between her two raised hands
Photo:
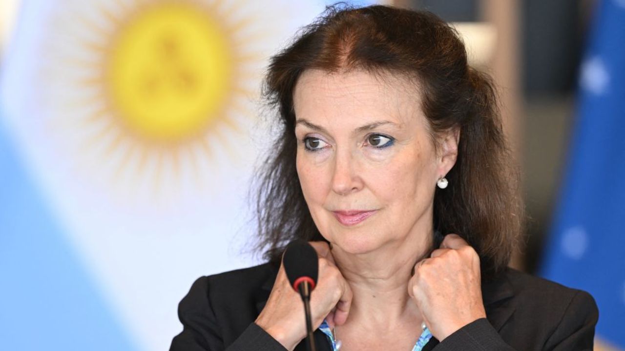
[[[354,293],[349,320],[378,328],[406,319],[421,320],[407,285],[412,268],[429,254],[433,241],[430,227],[365,254],[350,254],[334,247],[337,267]]]

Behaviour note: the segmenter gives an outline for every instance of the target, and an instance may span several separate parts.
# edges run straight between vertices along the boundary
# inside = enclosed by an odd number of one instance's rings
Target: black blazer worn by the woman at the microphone
[[[284,351],[254,324],[276,274],[264,264],[197,279],[178,306],[184,329],[170,351]],[[482,285],[482,297],[487,319],[440,343],[432,338],[423,350],[592,350],[599,311],[587,292],[506,269]],[[321,331],[315,340],[317,350],[331,351]],[[296,350],[306,350],[305,343]]]

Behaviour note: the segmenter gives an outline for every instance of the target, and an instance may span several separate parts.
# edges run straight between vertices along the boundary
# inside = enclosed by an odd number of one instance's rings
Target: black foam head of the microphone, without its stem
[[[299,284],[302,282],[308,282],[310,290],[317,285],[319,258],[311,244],[305,241],[294,241],[289,244],[282,256],[282,264],[295,291],[299,292]]]

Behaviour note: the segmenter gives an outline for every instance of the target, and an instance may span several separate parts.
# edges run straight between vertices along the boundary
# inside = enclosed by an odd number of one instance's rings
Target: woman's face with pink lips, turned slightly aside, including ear
[[[304,198],[323,237],[352,254],[431,234],[436,181],[456,160],[457,134],[434,149],[414,84],[382,78],[308,70],[294,91]]]

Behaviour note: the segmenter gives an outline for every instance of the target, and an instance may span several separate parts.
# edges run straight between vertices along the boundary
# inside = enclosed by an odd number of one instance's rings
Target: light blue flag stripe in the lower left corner
[[[1,122],[0,114],[0,349],[139,350],[66,242]]]

